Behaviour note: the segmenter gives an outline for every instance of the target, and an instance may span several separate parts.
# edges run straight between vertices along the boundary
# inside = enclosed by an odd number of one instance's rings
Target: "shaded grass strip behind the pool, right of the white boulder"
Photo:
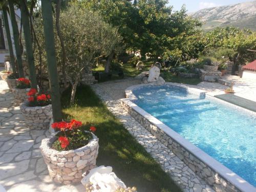
[[[198,84],[201,82],[200,78],[183,78],[167,71],[161,72],[161,76],[166,82],[178,82],[185,84]]]

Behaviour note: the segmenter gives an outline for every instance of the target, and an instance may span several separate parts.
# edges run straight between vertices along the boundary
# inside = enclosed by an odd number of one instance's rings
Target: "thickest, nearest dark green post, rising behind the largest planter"
[[[46,54],[48,63],[48,73],[50,79],[53,121],[62,120],[61,103],[58,83],[58,72],[56,64],[55,42],[53,32],[52,4],[51,0],[41,0],[42,19],[44,22]]]

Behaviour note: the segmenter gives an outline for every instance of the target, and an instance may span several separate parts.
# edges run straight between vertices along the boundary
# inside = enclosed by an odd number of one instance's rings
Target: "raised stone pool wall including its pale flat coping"
[[[168,84],[172,85],[172,83]],[[216,191],[255,191],[251,184],[132,102],[131,100],[137,99],[132,90],[141,86],[145,85],[127,88],[125,93],[128,99],[122,99],[121,105],[145,129],[155,135],[161,143],[172,150],[178,158]],[[199,97],[202,97],[202,93],[205,94],[194,88],[187,88],[187,90],[199,94]],[[237,108],[237,106],[234,107]]]

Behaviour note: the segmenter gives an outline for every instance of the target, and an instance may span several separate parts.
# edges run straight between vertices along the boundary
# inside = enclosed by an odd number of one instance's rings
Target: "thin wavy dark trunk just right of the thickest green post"
[[[57,0],[56,4],[56,30],[60,41],[61,51],[62,51],[62,74],[64,78],[64,87],[67,87],[67,77],[66,77],[66,50],[64,41],[61,35],[60,27],[59,27],[59,12],[60,12],[61,0]]]

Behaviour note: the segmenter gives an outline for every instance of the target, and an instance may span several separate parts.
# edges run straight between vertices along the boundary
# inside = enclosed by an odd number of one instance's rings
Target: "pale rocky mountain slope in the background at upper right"
[[[202,9],[189,15],[201,19],[205,31],[226,26],[256,31],[256,1]]]

